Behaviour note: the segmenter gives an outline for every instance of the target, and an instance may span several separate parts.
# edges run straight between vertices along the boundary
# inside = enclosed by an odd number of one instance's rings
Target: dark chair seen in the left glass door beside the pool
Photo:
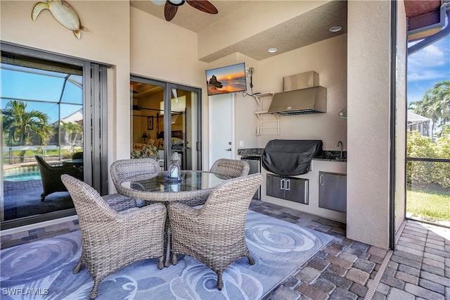
[[[54,192],[67,192],[63,182],[61,181],[61,175],[69,174],[74,177],[79,177],[79,170],[73,165],[57,165],[52,166],[44,161],[44,158],[37,155],[34,156],[39,166],[39,172],[41,173],[42,189],[44,192],[41,194],[41,202],[44,202],[45,197]]]

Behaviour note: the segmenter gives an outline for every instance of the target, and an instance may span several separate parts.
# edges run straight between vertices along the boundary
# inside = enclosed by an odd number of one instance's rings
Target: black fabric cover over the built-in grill
[[[321,140],[273,139],[266,144],[262,166],[282,176],[309,172],[311,160],[322,151]]]

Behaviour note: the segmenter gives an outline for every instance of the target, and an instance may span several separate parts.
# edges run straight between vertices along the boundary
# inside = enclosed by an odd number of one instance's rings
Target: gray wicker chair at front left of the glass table
[[[77,274],[85,265],[94,279],[89,294],[94,299],[98,285],[108,275],[125,265],[146,258],[159,258],[163,268],[164,204],[118,213],[95,189],[70,175],[61,175],[77,210],[82,235],[82,256],[73,269]]]

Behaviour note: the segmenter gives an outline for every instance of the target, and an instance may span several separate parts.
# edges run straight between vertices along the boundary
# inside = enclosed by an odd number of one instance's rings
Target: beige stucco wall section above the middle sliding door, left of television
[[[197,35],[131,7],[130,68],[134,75],[203,88],[207,63],[197,59]]]

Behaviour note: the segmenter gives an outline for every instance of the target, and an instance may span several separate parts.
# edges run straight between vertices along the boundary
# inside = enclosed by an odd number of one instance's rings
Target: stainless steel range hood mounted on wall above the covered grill
[[[290,90],[292,87],[295,89]],[[284,77],[283,90],[285,92],[274,94],[268,113],[326,113],[326,88],[319,86],[319,75],[314,71]]]

